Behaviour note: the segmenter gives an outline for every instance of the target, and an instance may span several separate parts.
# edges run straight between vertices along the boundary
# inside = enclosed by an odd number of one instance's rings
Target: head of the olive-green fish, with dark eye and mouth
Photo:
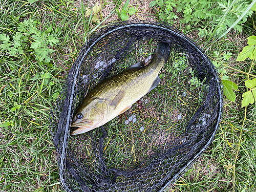
[[[109,101],[102,98],[94,98],[85,105],[81,105],[74,115],[71,126],[79,128],[70,133],[77,135],[86,133],[103,125],[108,115]]]

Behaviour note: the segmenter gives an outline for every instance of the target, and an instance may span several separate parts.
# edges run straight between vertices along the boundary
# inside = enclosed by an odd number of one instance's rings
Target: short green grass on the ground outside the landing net
[[[133,15],[130,18],[154,19],[150,9],[143,13],[143,2],[130,4],[140,10],[138,17]],[[0,34],[12,37],[20,22],[31,18],[38,22],[37,30],[46,32],[52,28],[49,34],[59,42],[51,46],[55,52],[50,54],[49,63],[35,59],[30,47],[34,40],[32,36],[30,42],[24,42],[23,54],[17,52],[11,56],[6,50],[0,51],[0,124],[5,123],[0,127],[0,191],[63,191],[48,119],[84,39],[97,26],[90,22],[89,17],[82,16],[87,6],[91,5],[85,3],[81,9],[78,1],[1,2]],[[102,0],[102,7],[105,18],[111,14],[108,9],[113,9],[114,4]],[[114,14],[104,24],[113,19],[118,17]],[[207,46],[206,53],[218,60],[214,51],[218,50],[220,54],[231,52],[227,65],[248,72],[250,62],[234,60],[246,44],[245,37],[251,35],[251,28],[249,23],[246,34],[230,32],[226,38]],[[184,33],[203,47],[204,41],[195,31]],[[221,127],[214,142],[167,191],[255,191],[256,105],[249,105],[246,109],[240,107],[245,91],[243,81],[247,76],[238,71],[227,72],[239,85],[236,103],[224,100]],[[256,75],[255,66],[250,73]],[[245,113],[249,120],[245,120]]]

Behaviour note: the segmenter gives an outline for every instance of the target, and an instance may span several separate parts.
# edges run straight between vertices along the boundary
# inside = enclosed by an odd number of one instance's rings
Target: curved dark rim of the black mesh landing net
[[[182,165],[179,170],[176,171],[174,175],[169,177],[167,180],[164,182],[158,184],[156,187],[150,188],[149,190],[145,191],[163,191],[167,186],[172,185],[179,177],[181,177],[185,171],[195,163],[195,161],[203,154],[203,152],[206,150],[206,148],[210,145],[212,140],[215,137],[215,134],[218,130],[219,123],[221,121],[222,117],[222,108],[223,108],[223,99],[222,99],[222,89],[221,89],[221,84],[220,84],[220,79],[218,77],[217,71],[215,67],[212,65],[211,61],[208,59],[208,57],[205,55],[205,53],[187,36],[182,34],[180,31],[177,29],[173,28],[172,26],[169,26],[164,23],[152,23],[152,22],[141,22],[141,21],[129,21],[129,22],[118,22],[111,24],[109,26],[104,27],[103,29],[99,30],[96,34],[94,34],[86,44],[81,48],[81,51],[79,53],[78,58],[74,62],[68,78],[67,78],[67,83],[66,86],[63,88],[63,91],[60,94],[59,99],[57,100],[55,104],[55,109],[52,110],[51,115],[50,115],[50,130],[53,136],[53,142],[55,145],[55,148],[58,152],[58,166],[59,166],[59,177],[60,177],[60,182],[62,184],[62,187],[66,191],[73,191],[72,189],[66,182],[66,172],[69,171],[72,175],[73,178],[75,178],[76,182],[80,185],[81,191],[91,191],[88,186],[84,184],[84,182],[79,178],[79,176],[76,174],[75,169],[66,162],[66,157],[68,153],[68,145],[69,145],[69,140],[70,140],[70,130],[71,130],[71,121],[74,113],[74,102],[76,101],[75,97],[75,90],[76,88],[76,79],[78,78],[79,75],[79,69],[84,63],[84,58],[89,54],[89,52],[94,48],[94,46],[102,40],[105,36],[108,36],[116,31],[121,31],[123,29],[127,28],[136,28],[136,27],[144,27],[144,28],[149,28],[152,30],[164,30],[167,33],[169,33],[170,36],[175,35],[184,41],[186,41],[187,44],[189,44],[191,47],[194,47],[195,50],[201,55],[203,60],[208,62],[208,65],[210,66],[211,70],[215,73],[215,78],[213,79],[214,81],[217,82],[217,89],[218,89],[218,96],[219,96],[219,106],[218,106],[218,112],[217,112],[217,117],[216,117],[216,123],[214,125],[214,129],[212,131],[212,134],[210,138],[207,140],[207,142],[204,143],[204,146],[200,148],[197,154],[195,154],[193,157],[189,159],[186,163]],[[199,74],[200,76],[200,74]],[[203,106],[202,106],[203,108]],[[61,111],[61,112],[60,112]],[[58,113],[56,113],[58,112]],[[196,116],[194,116],[196,118]],[[191,121],[192,122],[192,121]],[[187,127],[191,126],[191,124],[188,125]],[[102,130],[103,131],[103,130]],[[103,139],[103,138],[102,138]],[[100,191],[100,190],[98,190]]]

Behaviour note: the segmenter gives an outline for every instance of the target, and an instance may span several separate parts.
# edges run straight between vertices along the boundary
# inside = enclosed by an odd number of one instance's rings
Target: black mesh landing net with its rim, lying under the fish
[[[171,47],[159,86],[112,121],[70,136],[84,96],[138,61],[147,65],[159,40]],[[160,23],[107,26],[82,47],[51,113],[62,186],[67,191],[162,191],[206,150],[221,111],[216,69],[185,35]]]

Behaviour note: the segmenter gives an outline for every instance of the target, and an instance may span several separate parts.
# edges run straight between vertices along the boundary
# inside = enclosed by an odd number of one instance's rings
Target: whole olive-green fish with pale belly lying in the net
[[[137,62],[119,74],[99,82],[84,97],[76,111],[71,127],[78,127],[70,135],[89,132],[129,110],[133,103],[160,83],[158,76],[170,55],[170,46],[158,42],[148,65]]]

